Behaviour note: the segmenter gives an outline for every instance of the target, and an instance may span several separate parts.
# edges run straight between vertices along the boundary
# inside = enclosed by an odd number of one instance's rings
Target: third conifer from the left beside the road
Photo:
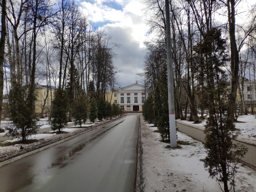
[[[85,123],[87,119],[87,107],[86,100],[83,95],[75,101],[74,103],[74,117],[75,125],[80,125],[82,127],[82,122]]]

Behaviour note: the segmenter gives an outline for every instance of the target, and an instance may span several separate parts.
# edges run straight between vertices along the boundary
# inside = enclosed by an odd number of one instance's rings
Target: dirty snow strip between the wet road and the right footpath
[[[157,128],[141,122],[144,191],[221,191],[200,161],[206,156],[201,142],[177,132],[179,141],[188,141],[192,145],[166,149],[168,144],[160,142],[160,134],[153,132]],[[256,172],[241,164],[238,171],[237,191],[256,191]]]

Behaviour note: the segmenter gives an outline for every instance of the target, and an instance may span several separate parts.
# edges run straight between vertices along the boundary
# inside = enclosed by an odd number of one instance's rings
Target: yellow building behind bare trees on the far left
[[[50,90],[51,89],[51,90]],[[37,100],[36,100],[36,113],[41,113],[43,109],[43,113],[47,114],[50,112],[51,109],[51,100],[53,100],[55,92],[54,86],[48,86],[47,91],[47,85],[37,85],[36,88],[36,94],[37,94]]]

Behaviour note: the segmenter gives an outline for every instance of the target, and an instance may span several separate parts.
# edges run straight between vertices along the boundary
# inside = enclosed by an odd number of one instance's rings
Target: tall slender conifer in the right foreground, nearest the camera
[[[197,61],[203,55],[204,66],[201,69],[204,70],[205,75],[201,78],[207,87],[204,95],[209,109],[205,127],[207,156],[203,162],[222,191],[228,192],[235,191],[237,163],[247,149],[243,145],[233,143],[238,132],[235,125],[232,123],[230,126],[228,121],[230,91],[227,74],[223,70],[227,61],[225,43],[226,41],[221,38],[220,30],[216,28],[209,30],[204,35],[204,41],[194,47],[194,59]],[[224,190],[220,183],[223,183]]]

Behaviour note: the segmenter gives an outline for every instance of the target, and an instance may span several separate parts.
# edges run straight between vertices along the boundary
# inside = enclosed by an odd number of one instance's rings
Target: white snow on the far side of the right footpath
[[[254,115],[242,115],[238,117],[238,121],[236,122],[236,128],[240,130],[240,135],[237,140],[256,145],[256,118]],[[179,123],[186,124],[197,129],[204,130],[206,125],[206,120],[202,123],[194,124],[193,121],[179,121]]]

